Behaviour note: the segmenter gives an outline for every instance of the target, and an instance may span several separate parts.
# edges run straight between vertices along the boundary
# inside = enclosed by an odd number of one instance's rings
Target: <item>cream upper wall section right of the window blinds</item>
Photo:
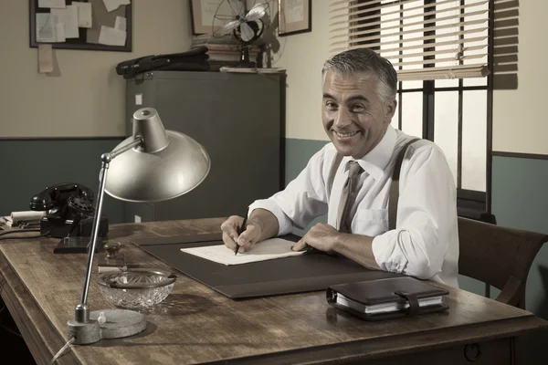
[[[493,151],[548,154],[547,15],[548,1],[520,1],[518,89],[494,91]]]

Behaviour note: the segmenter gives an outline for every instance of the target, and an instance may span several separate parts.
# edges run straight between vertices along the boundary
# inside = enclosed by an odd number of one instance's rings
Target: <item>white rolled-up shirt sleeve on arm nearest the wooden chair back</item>
[[[377,235],[381,269],[427,279],[441,272],[457,219],[457,190],[437,146],[419,147],[402,165],[395,229]]]

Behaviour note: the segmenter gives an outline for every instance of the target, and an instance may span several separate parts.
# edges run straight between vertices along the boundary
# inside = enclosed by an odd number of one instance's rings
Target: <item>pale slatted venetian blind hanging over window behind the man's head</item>
[[[399,80],[489,74],[489,0],[332,0],[330,51],[370,47]]]

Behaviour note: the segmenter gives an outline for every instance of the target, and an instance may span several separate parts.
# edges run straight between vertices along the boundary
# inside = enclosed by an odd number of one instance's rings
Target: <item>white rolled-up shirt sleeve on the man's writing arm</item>
[[[278,219],[279,235],[291,233],[293,227],[303,229],[311,221],[327,213],[327,193],[323,179],[326,148],[316,152],[300,174],[284,190],[268,199],[249,205],[248,215],[261,208]]]

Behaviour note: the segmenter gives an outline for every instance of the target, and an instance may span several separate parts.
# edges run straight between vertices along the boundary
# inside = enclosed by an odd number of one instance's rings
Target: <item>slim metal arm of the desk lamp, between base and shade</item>
[[[136,137],[134,141],[122,146],[118,150],[111,151],[110,153],[103,153],[100,156],[101,166],[99,175],[99,192],[97,198],[97,206],[93,214],[93,225],[91,228],[90,244],[88,245],[88,263],[86,266],[86,277],[84,280],[84,288],[82,290],[82,297],[80,303],[75,308],[75,320],[79,323],[87,323],[90,321],[90,308],[88,308],[88,292],[90,289],[91,279],[91,267],[93,266],[93,256],[95,255],[95,246],[97,245],[97,237],[99,235],[100,225],[100,212],[102,209],[103,197],[105,193],[105,185],[107,183],[107,172],[111,161],[121,153],[131,150],[133,147],[141,145],[143,142],[141,137]],[[91,245],[91,246],[90,246]]]

